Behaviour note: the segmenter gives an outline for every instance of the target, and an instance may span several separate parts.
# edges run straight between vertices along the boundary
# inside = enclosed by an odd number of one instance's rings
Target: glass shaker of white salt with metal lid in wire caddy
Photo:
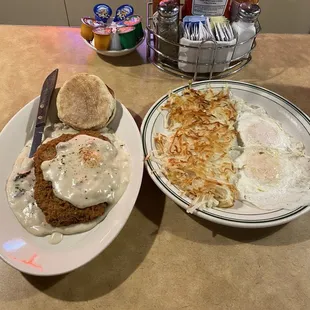
[[[261,12],[257,4],[242,3],[239,6],[237,20],[232,23],[237,37],[237,46],[232,60],[248,58],[256,35],[255,22]]]

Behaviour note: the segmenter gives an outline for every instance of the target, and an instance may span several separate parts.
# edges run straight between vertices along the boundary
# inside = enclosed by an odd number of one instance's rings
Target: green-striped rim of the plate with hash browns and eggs
[[[262,91],[263,93],[267,93],[271,96],[274,96],[278,99],[280,99],[283,103],[287,104],[288,106],[290,106],[291,108],[293,108],[297,114],[301,115],[309,124],[310,124],[310,117],[303,112],[298,106],[296,106],[295,104],[293,104],[290,100],[286,99],[285,97],[277,94],[274,91],[271,91],[265,87],[262,86],[258,86],[252,83],[248,83],[248,82],[242,82],[242,81],[235,81],[235,80],[204,80],[204,81],[197,81],[197,82],[193,82],[191,85],[193,87],[195,86],[203,86],[203,85],[210,85],[212,87],[212,84],[232,84],[232,85],[239,85],[239,86],[247,86],[247,87],[252,87],[252,88],[256,88],[259,91]],[[173,90],[171,90],[170,92],[166,93],[165,95],[163,95],[161,98],[159,98],[148,110],[148,112],[146,113],[145,117],[143,118],[142,124],[141,124],[141,138],[142,138],[142,146],[143,146],[143,152],[144,152],[144,156],[147,156],[148,154],[147,152],[147,147],[146,147],[146,131],[147,128],[146,124],[148,122],[148,120],[151,118],[152,112],[156,111],[158,109],[158,107],[162,104],[163,101],[165,101],[168,96],[169,93],[177,93],[180,92],[182,90],[184,90],[185,88],[188,87],[188,84],[182,85],[180,87],[177,87]],[[156,176],[156,173],[154,173],[151,170],[150,167],[150,163],[149,161],[145,161],[145,166],[147,168],[148,174],[150,175],[150,177],[152,178],[152,180],[155,182],[155,184],[159,187],[159,189],[161,191],[163,191],[165,193],[165,195],[167,195],[169,198],[171,198],[179,207],[181,207],[182,209],[186,210],[185,207],[185,203],[182,202],[176,195],[174,195],[173,191],[169,191],[167,189],[168,185],[164,185],[164,182],[160,181],[160,176]],[[287,213],[285,216],[285,218],[279,218],[279,219],[275,219],[275,220],[269,220],[268,222],[264,222],[264,221],[259,221],[259,222],[245,222],[245,221],[238,221],[238,220],[227,220],[227,219],[222,219],[216,215],[210,214],[210,213],[205,213],[199,210],[195,210],[193,212],[193,215],[204,218],[206,220],[209,220],[211,222],[217,223],[217,224],[222,224],[222,225],[226,225],[226,226],[231,226],[231,227],[238,227],[238,228],[266,228],[266,227],[272,227],[272,226],[278,226],[278,225],[283,225],[286,224],[294,219],[296,219],[297,217],[307,213],[308,211],[310,211],[310,205],[307,206],[301,206],[299,208],[296,208],[294,210],[291,210],[292,212]],[[291,214],[292,213],[292,214]]]

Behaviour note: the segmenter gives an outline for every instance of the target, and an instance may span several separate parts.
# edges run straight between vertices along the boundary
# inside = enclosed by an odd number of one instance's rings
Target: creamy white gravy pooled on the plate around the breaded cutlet
[[[45,137],[46,141],[55,139],[62,134],[74,134],[77,133],[75,130],[68,128],[62,124],[54,125],[53,131],[49,132],[49,129],[46,130]],[[107,129],[103,130],[104,135],[113,143],[115,148],[115,158],[114,164],[117,166],[119,173],[118,188],[115,191],[114,199],[108,201],[110,203],[109,207],[112,207],[117,203],[120,197],[126,190],[126,187],[129,183],[130,178],[130,157],[126,151],[122,141],[118,140],[114,133],[108,131]],[[53,227],[45,221],[45,216],[41,209],[37,206],[34,199],[34,184],[35,184],[35,175],[33,160],[28,158],[29,150],[31,147],[31,141],[29,141],[23,148],[21,154],[18,156],[15,165],[13,167],[12,173],[7,182],[7,197],[10,207],[17,217],[21,225],[31,234],[36,236],[48,236],[49,242],[51,244],[57,244],[62,240],[62,234],[71,235],[76,233],[81,233],[88,231],[100,223],[104,217],[107,215],[107,212],[97,218],[96,220],[76,224],[66,227]],[[106,185],[106,184],[105,184]],[[104,190],[104,186],[102,190]],[[71,201],[70,201],[71,202]],[[59,233],[59,234],[54,234]]]

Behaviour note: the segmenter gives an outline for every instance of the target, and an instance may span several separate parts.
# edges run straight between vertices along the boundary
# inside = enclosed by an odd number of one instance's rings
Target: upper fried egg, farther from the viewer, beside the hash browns
[[[303,151],[295,141],[261,107],[239,105],[237,131],[244,147],[264,146],[282,150]]]

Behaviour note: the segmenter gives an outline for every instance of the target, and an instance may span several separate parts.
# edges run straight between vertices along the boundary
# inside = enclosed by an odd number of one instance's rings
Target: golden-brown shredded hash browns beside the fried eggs
[[[171,94],[162,110],[167,111],[171,134],[154,137],[156,151],[150,159],[192,199],[187,211],[232,207],[238,197],[230,158],[230,150],[237,145],[237,112],[229,91],[186,89],[181,96]]]

